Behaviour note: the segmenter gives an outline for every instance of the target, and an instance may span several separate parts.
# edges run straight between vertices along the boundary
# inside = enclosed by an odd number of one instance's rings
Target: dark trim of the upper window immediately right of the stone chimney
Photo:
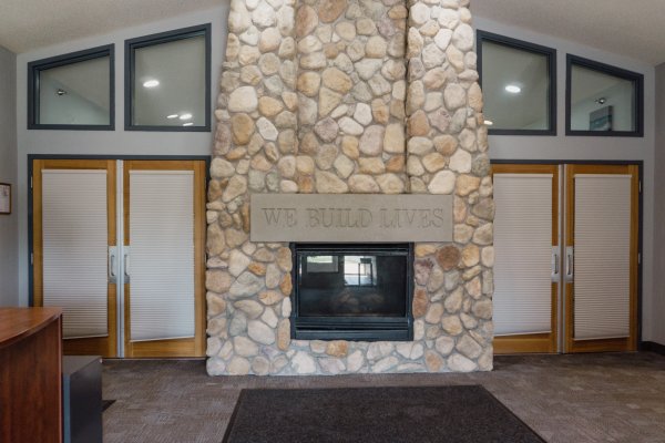
[[[518,40],[510,37],[495,34],[493,32],[477,31],[477,53],[478,53],[478,75],[482,89],[482,43],[489,41],[501,44],[507,48],[532,52],[539,55],[545,55],[548,59],[548,75],[550,76],[550,87],[548,89],[548,110],[549,119],[548,130],[498,130],[488,126],[490,135],[556,135],[556,50],[554,48],[543,47],[524,40]]]

